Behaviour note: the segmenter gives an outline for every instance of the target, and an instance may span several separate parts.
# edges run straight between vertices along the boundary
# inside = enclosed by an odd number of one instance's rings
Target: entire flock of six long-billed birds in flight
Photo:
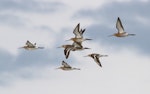
[[[124,27],[122,25],[122,22],[120,20],[120,18],[118,17],[117,22],[116,22],[116,28],[118,30],[117,33],[114,33],[113,35],[110,36],[116,36],[116,37],[126,37],[126,36],[134,36],[135,34],[129,34],[127,32],[124,31]],[[84,38],[83,37],[83,33],[85,32],[85,29],[80,29],[80,23],[77,24],[77,26],[75,27],[75,29],[73,30],[73,33],[75,35],[74,38],[70,38],[67,41],[73,41],[72,44],[67,44],[67,45],[62,45],[58,48],[64,48],[64,55],[65,58],[68,59],[69,54],[71,51],[82,51],[85,49],[90,49],[88,47],[83,47],[82,42],[87,41],[87,40],[92,40],[89,38]],[[31,43],[30,41],[27,40],[26,45],[21,47],[24,48],[26,50],[35,50],[35,49],[43,49],[44,47],[38,47],[36,46],[36,43]],[[99,60],[100,57],[107,57],[108,55],[101,55],[98,53],[91,53],[88,54],[84,57],[91,57],[94,59],[94,61],[100,66],[102,67],[102,64]],[[62,66],[58,67],[57,69],[62,69],[62,70],[80,70],[80,68],[74,68],[71,67],[68,63],[66,63],[65,61],[62,61]]]

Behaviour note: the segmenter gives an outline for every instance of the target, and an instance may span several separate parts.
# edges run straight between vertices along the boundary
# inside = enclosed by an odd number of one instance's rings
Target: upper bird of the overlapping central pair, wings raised
[[[83,38],[83,33],[84,32],[85,32],[85,29],[80,30],[80,23],[78,23],[77,26],[75,27],[75,29],[73,30],[73,33],[74,33],[75,37],[70,38],[67,41],[72,40],[74,42],[83,42],[83,41],[86,41],[86,40],[92,40],[92,39],[89,39],[89,38]]]

